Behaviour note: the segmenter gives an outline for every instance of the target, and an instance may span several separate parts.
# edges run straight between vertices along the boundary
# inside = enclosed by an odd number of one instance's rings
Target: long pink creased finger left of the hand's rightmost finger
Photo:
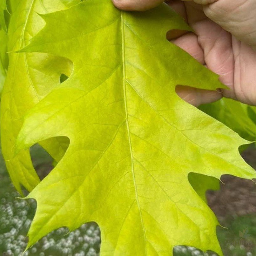
[[[188,23],[198,35],[199,45],[204,51],[205,64],[210,70],[220,75],[219,80],[232,89],[229,93],[232,98],[235,98],[231,34],[209,20],[201,6],[186,3],[186,10]]]

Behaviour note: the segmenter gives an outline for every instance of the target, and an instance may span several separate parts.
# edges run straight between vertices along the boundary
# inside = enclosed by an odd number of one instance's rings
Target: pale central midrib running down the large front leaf
[[[138,205],[138,209],[139,209],[139,214],[140,214],[141,225],[142,225],[142,228],[143,228],[144,242],[145,242],[145,255],[147,255],[146,235],[145,235],[145,228],[144,228],[144,223],[143,223],[143,218],[142,218],[142,212],[141,212],[139,199],[138,199],[138,190],[137,190],[137,185],[136,185],[136,180],[135,180],[134,162],[133,162],[132,145],[131,145],[131,133],[130,133],[130,127],[129,127],[129,122],[128,122],[128,110],[127,110],[127,99],[126,99],[125,22],[124,22],[124,16],[125,16],[125,12],[121,11],[123,91],[124,91],[124,103],[125,103],[125,115],[126,115],[126,129],[127,129],[127,133],[128,133],[128,141],[129,141],[129,147],[130,147],[131,173],[132,173],[133,185],[134,185],[134,189],[135,189],[135,197],[136,197],[136,201],[137,201],[137,205]]]

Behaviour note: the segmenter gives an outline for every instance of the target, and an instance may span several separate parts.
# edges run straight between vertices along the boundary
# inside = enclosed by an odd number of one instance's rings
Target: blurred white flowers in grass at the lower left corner
[[[0,255],[21,256],[28,241],[26,234],[37,205],[35,200],[15,199],[17,196],[17,192],[1,195]],[[39,240],[23,255],[97,256],[99,248],[100,229],[96,223],[88,223],[69,233],[67,228],[59,228]]]

